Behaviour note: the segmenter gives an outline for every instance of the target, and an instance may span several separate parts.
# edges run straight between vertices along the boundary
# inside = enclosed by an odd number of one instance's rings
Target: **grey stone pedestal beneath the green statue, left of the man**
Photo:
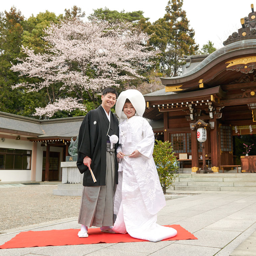
[[[83,190],[83,176],[76,166],[76,162],[61,162],[62,184],[53,190],[58,196],[81,196]]]

